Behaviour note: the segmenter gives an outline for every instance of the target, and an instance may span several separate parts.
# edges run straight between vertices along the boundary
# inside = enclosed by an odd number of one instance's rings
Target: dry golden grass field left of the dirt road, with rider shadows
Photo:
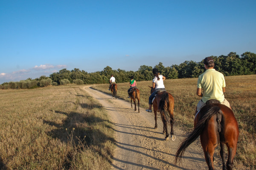
[[[0,169],[109,169],[113,129],[81,88],[0,90]]]

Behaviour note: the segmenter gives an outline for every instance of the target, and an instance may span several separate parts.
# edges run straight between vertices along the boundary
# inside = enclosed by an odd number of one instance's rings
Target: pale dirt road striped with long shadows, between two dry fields
[[[140,113],[131,109],[131,103],[112,99],[111,93],[96,91],[90,86],[84,88],[108,111],[116,132],[116,150],[113,169],[116,170],[206,170],[207,164],[200,144],[191,144],[182,164],[174,164],[178,146],[184,139],[184,132],[174,127],[176,140],[165,141],[163,123],[158,117],[158,129],[154,129],[154,113],[140,108]],[[174,115],[175,116],[175,115]],[[169,127],[170,132],[170,127]]]

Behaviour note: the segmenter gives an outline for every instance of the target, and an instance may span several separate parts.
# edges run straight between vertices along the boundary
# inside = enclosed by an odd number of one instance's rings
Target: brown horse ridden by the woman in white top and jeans
[[[152,94],[155,91],[155,88],[148,86],[151,88],[150,93]],[[175,140],[175,135],[173,132],[173,124],[174,124],[174,117],[173,117],[173,109],[174,109],[174,99],[172,94],[169,94],[166,91],[157,93],[155,99],[152,103],[155,115],[155,129],[157,129],[157,112],[160,112],[162,121],[163,121],[163,134],[166,132],[166,140],[169,140],[169,134],[167,130],[167,117],[168,114],[170,116],[170,125],[171,125],[171,139]]]

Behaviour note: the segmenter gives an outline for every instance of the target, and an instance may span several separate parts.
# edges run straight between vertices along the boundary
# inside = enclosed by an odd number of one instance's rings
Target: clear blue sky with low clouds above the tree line
[[[0,0],[0,84],[256,53],[255,0]]]

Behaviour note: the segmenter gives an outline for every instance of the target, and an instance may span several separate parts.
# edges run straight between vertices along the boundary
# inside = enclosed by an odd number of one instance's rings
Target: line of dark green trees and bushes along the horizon
[[[215,70],[224,76],[256,74],[256,54],[245,52],[239,56],[236,52],[230,52],[227,56],[210,56],[214,59]],[[204,59],[201,62],[185,61],[180,65],[165,67],[162,62],[154,66],[166,79],[195,78],[204,73]],[[137,81],[152,80],[152,67],[141,65],[138,71],[113,70],[106,66],[103,71],[87,73],[79,68],[69,71],[66,68],[50,74],[49,77],[21,80],[20,82],[5,82],[0,85],[2,89],[38,88],[49,85],[66,85],[74,83],[82,84],[105,84],[109,82],[111,74],[116,78],[116,83],[129,82],[133,75]]]

